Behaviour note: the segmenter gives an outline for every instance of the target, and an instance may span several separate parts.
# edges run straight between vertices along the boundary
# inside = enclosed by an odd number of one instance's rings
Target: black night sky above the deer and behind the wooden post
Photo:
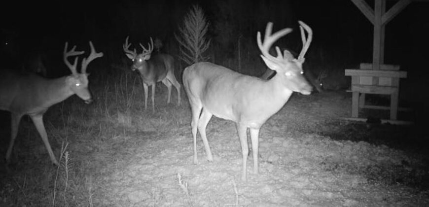
[[[367,1],[373,6],[373,0]],[[395,1],[388,1],[388,8]],[[158,36],[174,42],[183,15],[194,3],[203,7],[211,23],[210,37],[243,35],[254,38],[268,21],[274,29],[303,20],[313,28],[312,47],[331,56],[349,53],[354,62],[370,61],[372,25],[351,0],[116,0],[116,1],[11,1],[0,3],[1,28],[19,31],[25,44],[55,49],[64,41],[93,40],[103,49],[121,49],[127,35],[135,41]],[[429,3],[412,2],[386,27],[386,62],[423,64],[428,52]],[[225,27],[227,25],[228,27]],[[232,26],[231,26],[232,25]],[[228,29],[230,33],[227,33]],[[299,32],[286,38],[299,42]],[[232,36],[231,36],[232,35]],[[233,40],[231,40],[233,41]],[[254,42],[255,43],[255,42]],[[23,43],[24,44],[24,43]],[[414,60],[413,60],[414,59]],[[416,60],[418,59],[418,60]],[[353,62],[352,61],[352,62]],[[412,64],[410,65],[412,66]]]

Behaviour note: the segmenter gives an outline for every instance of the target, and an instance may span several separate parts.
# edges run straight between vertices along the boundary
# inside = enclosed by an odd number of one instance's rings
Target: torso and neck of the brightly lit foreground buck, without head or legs
[[[207,62],[183,72],[183,85],[190,99],[200,100],[216,117],[249,127],[260,127],[286,104],[293,91],[279,81],[279,77],[262,80]]]

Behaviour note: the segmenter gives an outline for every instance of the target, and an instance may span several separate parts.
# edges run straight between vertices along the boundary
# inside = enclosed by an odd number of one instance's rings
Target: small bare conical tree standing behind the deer
[[[203,53],[210,46],[210,39],[206,39],[209,23],[206,20],[203,9],[193,5],[183,20],[183,26],[179,27],[179,35],[175,34],[179,41],[180,59],[189,65],[207,61],[209,57]]]

